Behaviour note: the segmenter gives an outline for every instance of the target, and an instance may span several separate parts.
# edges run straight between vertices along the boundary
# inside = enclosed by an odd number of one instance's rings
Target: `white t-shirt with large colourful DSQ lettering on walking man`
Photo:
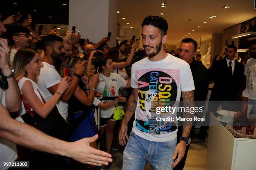
[[[143,58],[132,65],[131,87],[138,89],[132,131],[149,141],[175,139],[177,121],[158,121],[156,117],[176,117],[176,112],[156,114],[154,108],[164,107],[170,101],[179,106],[181,91],[195,89],[189,64],[170,54],[161,61]]]

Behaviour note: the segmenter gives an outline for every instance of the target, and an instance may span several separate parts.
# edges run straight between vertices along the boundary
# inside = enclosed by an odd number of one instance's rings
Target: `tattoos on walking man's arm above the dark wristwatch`
[[[182,98],[183,98],[183,104],[184,107],[195,107],[194,104],[194,91],[185,91],[182,92]],[[189,112],[184,112],[183,117],[192,117],[193,114],[190,114]],[[182,129],[182,136],[183,137],[189,137],[190,130],[192,128],[193,121],[184,121],[183,122],[183,129]]]

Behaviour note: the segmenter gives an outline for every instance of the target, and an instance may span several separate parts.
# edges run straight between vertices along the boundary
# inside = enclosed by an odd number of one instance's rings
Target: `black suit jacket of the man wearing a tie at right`
[[[243,64],[235,60],[232,76],[228,72],[226,58],[216,61],[212,65],[212,76],[215,85],[212,89],[210,100],[233,101],[237,100],[244,79]]]

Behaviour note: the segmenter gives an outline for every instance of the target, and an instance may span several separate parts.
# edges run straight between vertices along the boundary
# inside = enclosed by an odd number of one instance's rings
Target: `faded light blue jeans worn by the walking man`
[[[131,132],[123,151],[123,170],[144,170],[149,163],[151,170],[172,170],[172,155],[177,138],[167,142],[152,142]]]

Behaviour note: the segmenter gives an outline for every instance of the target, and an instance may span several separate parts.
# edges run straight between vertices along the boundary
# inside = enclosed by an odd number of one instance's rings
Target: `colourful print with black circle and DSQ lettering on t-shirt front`
[[[172,121],[157,121],[156,117],[174,117],[172,113],[156,114],[156,107],[173,106],[177,98],[179,69],[147,69],[135,71],[139,107],[136,127],[149,134],[165,134],[177,129]],[[171,76],[172,75],[172,76]]]

